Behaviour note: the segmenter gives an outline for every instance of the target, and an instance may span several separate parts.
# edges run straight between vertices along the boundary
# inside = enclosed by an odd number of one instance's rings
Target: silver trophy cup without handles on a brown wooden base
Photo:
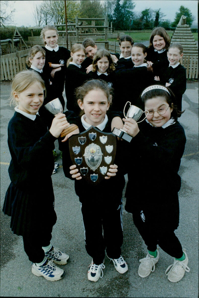
[[[59,113],[63,113],[63,107],[61,105],[61,102],[58,98],[55,98],[53,100],[51,100],[49,103],[47,103],[46,105],[44,105],[44,107],[50,112],[52,113],[54,116],[56,116]],[[74,131],[75,129],[77,129],[78,126],[75,124],[70,124],[67,128],[65,128],[62,133],[61,133],[61,137],[66,136],[67,134],[69,134],[70,132]]]

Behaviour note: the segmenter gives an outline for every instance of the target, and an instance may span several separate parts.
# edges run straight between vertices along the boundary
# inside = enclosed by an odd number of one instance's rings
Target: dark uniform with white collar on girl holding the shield
[[[84,117],[85,115],[81,118],[78,117],[80,132],[90,127],[85,122]],[[73,123],[72,118],[68,118],[68,121]],[[111,118],[108,119],[106,115],[104,121],[97,128],[104,132],[110,132]],[[65,145],[67,148],[63,150],[62,155],[63,170],[65,176],[72,179],[69,173],[72,161],[70,160],[69,148],[67,144]],[[125,186],[123,156],[121,144],[117,142],[114,161],[118,165],[117,175],[108,180],[102,180],[99,185],[87,184],[87,182],[82,181],[83,179],[75,179],[75,193],[81,202],[85,247],[96,265],[103,263],[105,249],[110,258],[117,259],[121,255],[123,243],[122,191]]]

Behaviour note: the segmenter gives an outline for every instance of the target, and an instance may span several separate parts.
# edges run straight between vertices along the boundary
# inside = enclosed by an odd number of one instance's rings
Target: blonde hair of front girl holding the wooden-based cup
[[[38,83],[41,85],[43,90],[45,91],[45,85],[44,80],[41,78],[41,76],[34,71],[31,70],[23,70],[22,72],[19,72],[14,79],[12,80],[11,84],[11,94],[10,94],[10,105],[18,105],[18,102],[13,97],[13,93],[21,93],[25,91],[28,87],[33,85],[34,83]]]

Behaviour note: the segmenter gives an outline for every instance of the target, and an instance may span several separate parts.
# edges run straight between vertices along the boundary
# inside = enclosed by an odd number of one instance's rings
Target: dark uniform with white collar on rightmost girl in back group
[[[161,85],[165,86],[170,83],[169,88],[175,94],[176,104],[179,111],[182,111],[182,95],[186,91],[186,69],[180,64],[162,67],[158,76]],[[157,81],[156,81],[157,82]]]

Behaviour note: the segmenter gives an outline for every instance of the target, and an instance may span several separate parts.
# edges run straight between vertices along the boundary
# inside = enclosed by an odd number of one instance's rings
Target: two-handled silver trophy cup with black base
[[[127,106],[127,103],[130,104],[130,108],[127,112],[127,116],[125,115],[125,108]],[[146,119],[147,115],[149,114],[148,111],[142,111],[140,108],[136,107],[135,105],[131,105],[130,101],[127,101],[127,103],[124,106],[124,117],[127,118],[132,118],[134,119],[137,123],[142,122],[144,119]],[[147,113],[147,115],[144,117],[144,119],[142,119],[141,121],[138,122],[138,120],[140,119],[140,117],[142,116],[143,113]],[[115,134],[116,136],[118,136],[121,139],[124,139],[127,142],[130,142],[132,140],[132,136],[129,136],[129,134],[127,134],[126,131],[124,131],[122,128],[118,129],[118,128],[113,128],[112,133]]]

